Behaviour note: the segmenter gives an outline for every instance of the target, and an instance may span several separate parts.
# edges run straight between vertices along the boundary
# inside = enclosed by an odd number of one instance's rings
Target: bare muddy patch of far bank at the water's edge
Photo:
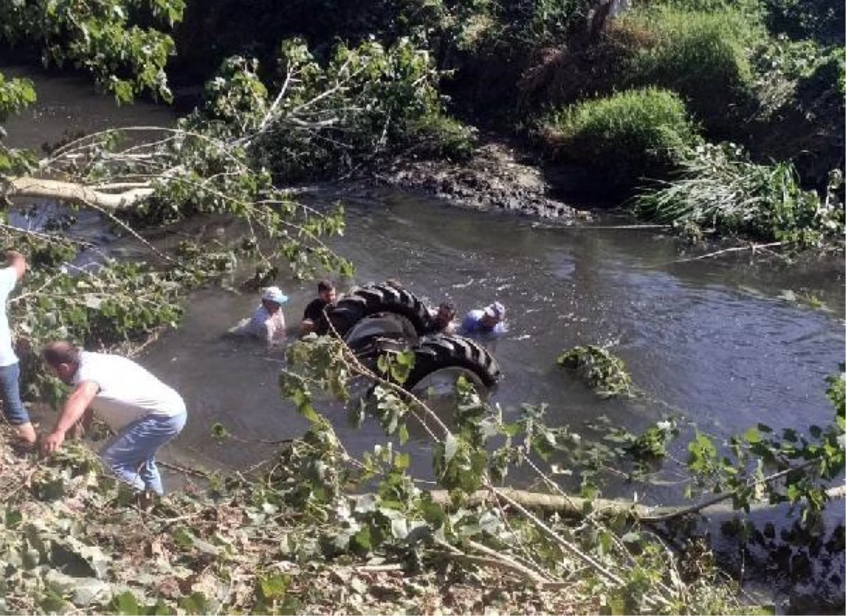
[[[508,210],[566,224],[591,218],[585,209],[560,196],[562,189],[574,189],[580,183],[578,172],[551,174],[530,151],[502,140],[484,140],[463,162],[398,157],[367,180],[478,210]]]

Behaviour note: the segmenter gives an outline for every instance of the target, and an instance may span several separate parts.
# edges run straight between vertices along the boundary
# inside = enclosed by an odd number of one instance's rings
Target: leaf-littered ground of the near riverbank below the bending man
[[[269,482],[204,481],[142,507],[79,443],[42,459],[16,451],[3,427],[0,488],[3,612],[568,614],[602,604],[578,581],[541,588],[518,567],[454,548],[422,568],[372,554],[323,558],[318,545],[304,558],[321,523],[283,505]]]

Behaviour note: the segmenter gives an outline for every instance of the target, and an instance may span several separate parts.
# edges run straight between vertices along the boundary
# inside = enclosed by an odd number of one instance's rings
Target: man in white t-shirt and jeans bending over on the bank
[[[120,355],[88,353],[67,342],[41,350],[50,370],[73,386],[52,432],[41,439],[49,454],[62,446],[78,421],[91,421],[91,410],[116,432],[101,453],[103,464],[139,490],[162,494],[156,452],[185,425],[183,399],[135,361]]]

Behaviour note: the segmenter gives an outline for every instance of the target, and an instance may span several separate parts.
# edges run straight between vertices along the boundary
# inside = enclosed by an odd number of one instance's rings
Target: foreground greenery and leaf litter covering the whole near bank
[[[366,613],[447,601],[462,610],[493,603],[541,613],[603,605],[734,613],[736,588],[715,567],[706,536],[678,521],[730,501],[737,517],[727,528],[742,529],[751,545],[764,535],[744,511],[791,503],[809,538],[803,549],[819,549],[812,546],[826,483],[846,465],[840,375],[829,383],[831,426],[777,434],[760,424],[728,443],[695,432],[686,462],[668,455],[679,434],[673,420],[640,434],[597,421],[591,430],[599,436],[588,438],[547,426],[544,406],[525,405],[506,421],[459,381],[448,428],[382,382],[376,403],[362,408],[387,440],[354,459],[314,406],[329,392],[348,399],[352,379],[374,377],[351,359],[329,338],[294,345],[280,384],[310,419],[303,437],[269,470],[206,476],[149,508],[102,476],[85,448],[48,460],[4,459],[3,609],[321,613],[343,597],[349,611]],[[422,426],[434,486],[409,472],[408,428]],[[225,429],[217,436],[225,439]],[[647,509],[598,497],[608,478],[649,481],[662,465],[684,469],[694,506]],[[501,487],[517,467],[542,489]],[[582,496],[564,492],[557,476],[578,481]],[[703,498],[708,492],[716,497]]]

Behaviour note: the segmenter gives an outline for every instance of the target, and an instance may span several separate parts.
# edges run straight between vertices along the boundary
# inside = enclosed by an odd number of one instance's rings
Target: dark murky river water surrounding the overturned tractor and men
[[[70,78],[31,76],[41,102],[7,124],[14,146],[39,146],[65,129],[172,121],[158,107],[114,107]],[[824,380],[846,359],[846,287],[837,264],[755,265],[746,253],[690,261],[651,230],[562,228],[398,192],[342,190],[316,199],[341,199],[348,211],[346,234],[333,246],[357,273],[355,281],[339,281],[340,290],[398,278],[432,301],[453,300],[459,311],[492,300],[507,306],[509,332],[492,347],[505,375],[492,400],[506,415],[516,415],[521,403],[547,403],[552,424],[580,429],[607,415],[634,429],[676,412],[722,437],[759,421],[805,428],[832,416]],[[299,321],[314,282],[278,283],[291,297],[288,322]],[[795,301],[795,294],[824,307]],[[275,450],[256,439],[305,429],[278,394],[281,357],[222,338],[256,302],[253,294],[199,291],[183,326],[140,358],[188,402],[189,425],[171,448],[176,459],[244,469]],[[649,401],[597,399],[556,366],[556,357],[578,344],[611,345]],[[373,422],[354,429],[338,407],[326,408],[351,453],[384,440]],[[242,440],[215,443],[215,422]],[[418,454],[427,447],[415,443]],[[678,492],[655,488],[655,496],[674,500]]]

